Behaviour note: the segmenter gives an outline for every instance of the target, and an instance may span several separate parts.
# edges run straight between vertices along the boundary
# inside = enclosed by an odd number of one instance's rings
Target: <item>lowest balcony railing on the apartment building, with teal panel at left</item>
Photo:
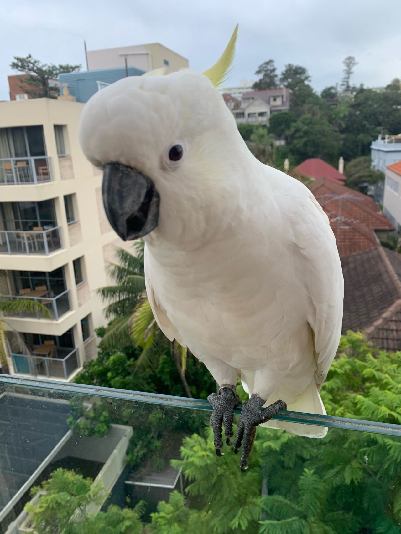
[[[26,373],[37,376],[47,376],[48,378],[64,378],[68,379],[71,373],[73,373],[79,367],[79,353],[78,348],[71,350],[64,357],[63,354],[70,349],[57,349],[55,357],[48,356],[27,356],[25,354],[12,354],[12,363],[14,366],[14,372]],[[34,349],[35,352],[35,349]],[[58,356],[58,357],[57,357]]]

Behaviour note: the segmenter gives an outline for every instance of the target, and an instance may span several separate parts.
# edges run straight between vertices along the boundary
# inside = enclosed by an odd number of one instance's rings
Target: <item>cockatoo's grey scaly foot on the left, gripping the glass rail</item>
[[[226,443],[231,446],[230,437],[233,437],[233,419],[234,409],[241,404],[241,399],[236,395],[235,386],[227,386],[225,384],[219,389],[218,394],[212,393],[207,397],[209,404],[213,406],[210,424],[213,428],[214,447],[217,456],[223,456],[221,452],[223,441],[223,423],[224,433],[226,436]]]

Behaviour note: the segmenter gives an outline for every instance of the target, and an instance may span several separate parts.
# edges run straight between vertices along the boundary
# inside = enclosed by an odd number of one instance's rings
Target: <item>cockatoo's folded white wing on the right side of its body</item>
[[[317,361],[315,380],[325,381],[341,336],[344,279],[334,233],[313,194],[302,188],[297,199],[294,238],[299,276],[310,299],[308,321]]]

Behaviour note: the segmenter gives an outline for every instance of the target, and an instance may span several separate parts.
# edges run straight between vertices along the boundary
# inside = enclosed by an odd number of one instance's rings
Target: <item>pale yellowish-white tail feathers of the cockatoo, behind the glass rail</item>
[[[284,400],[284,402],[286,401],[285,394],[280,396],[280,389],[278,389],[274,392],[273,395],[271,395],[267,399],[265,406],[274,403],[280,398]],[[319,415],[326,415],[325,406],[323,406],[318,388],[313,379],[309,386],[306,387],[302,395],[300,395],[294,403],[287,405],[287,409],[293,412],[316,413]],[[260,426],[268,428],[280,428],[282,430],[286,430],[290,434],[295,434],[297,436],[322,438],[325,437],[327,434],[327,427],[302,425],[300,423],[287,423],[284,421],[276,421],[275,419],[267,421],[266,423],[262,423]]]

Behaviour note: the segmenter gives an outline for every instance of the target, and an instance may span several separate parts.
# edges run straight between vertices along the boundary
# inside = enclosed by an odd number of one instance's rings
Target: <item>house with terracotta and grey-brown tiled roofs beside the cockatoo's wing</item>
[[[401,350],[401,255],[380,245],[394,226],[375,202],[333,179],[310,189],[329,218],[344,276],[342,332],[364,331],[385,350]]]

